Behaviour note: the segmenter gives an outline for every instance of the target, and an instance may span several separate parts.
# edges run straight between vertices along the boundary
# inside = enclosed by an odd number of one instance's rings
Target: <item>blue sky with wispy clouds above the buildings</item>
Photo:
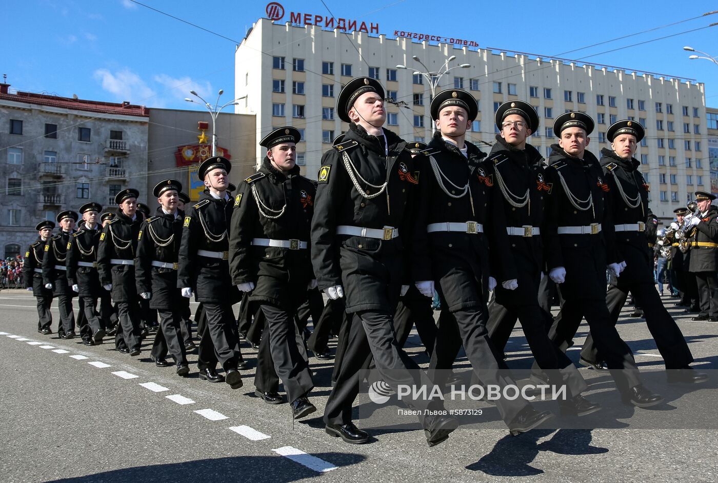
[[[268,3],[141,2],[237,42],[256,19],[266,16]],[[707,105],[718,107],[718,65],[689,60],[689,52],[682,50],[691,45],[718,55],[718,25],[627,47],[718,22],[714,14],[663,27],[718,10],[718,1],[457,2],[465,11],[441,11],[437,6],[448,2],[424,0],[279,3],[287,20],[289,11],[329,16],[330,10],[335,17],[378,23],[380,33],[389,36],[395,29],[431,32],[544,56],[575,50],[559,57],[694,78],[706,84]],[[130,0],[12,1],[4,4],[3,14],[0,74],[8,75],[11,88],[182,109],[193,107],[183,101],[191,89],[207,95],[216,95],[219,88],[233,92],[234,42]],[[655,30],[617,39],[648,29]],[[597,55],[605,51],[612,52]]]

